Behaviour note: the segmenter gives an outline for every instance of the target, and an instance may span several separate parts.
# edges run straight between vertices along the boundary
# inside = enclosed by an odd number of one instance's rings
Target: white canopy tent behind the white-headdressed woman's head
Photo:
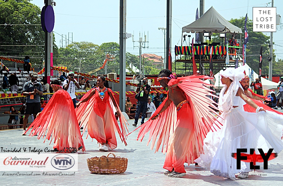
[[[242,63],[239,63],[239,65],[242,66]],[[245,68],[246,75],[249,76],[252,69],[247,64],[245,64],[245,66],[246,66],[246,68]],[[223,72],[223,70],[220,70],[220,72]],[[254,79],[253,80],[255,80],[256,78],[259,78],[259,75],[254,72]],[[219,80],[220,80],[220,76],[219,76],[219,72],[218,72],[217,74],[214,75],[214,80],[213,80],[213,81],[215,81],[214,86],[215,86],[216,89],[221,89],[224,86],[221,83],[221,81],[219,81]],[[252,81],[252,79],[250,79],[250,83],[251,83],[251,81]],[[208,79],[205,80],[205,82],[210,83]],[[213,84],[213,82],[211,82],[211,83]],[[278,85],[278,83],[275,83],[273,81],[269,81],[268,79],[265,79],[264,77],[261,77],[261,84],[262,84],[263,90],[277,89],[277,85]]]

